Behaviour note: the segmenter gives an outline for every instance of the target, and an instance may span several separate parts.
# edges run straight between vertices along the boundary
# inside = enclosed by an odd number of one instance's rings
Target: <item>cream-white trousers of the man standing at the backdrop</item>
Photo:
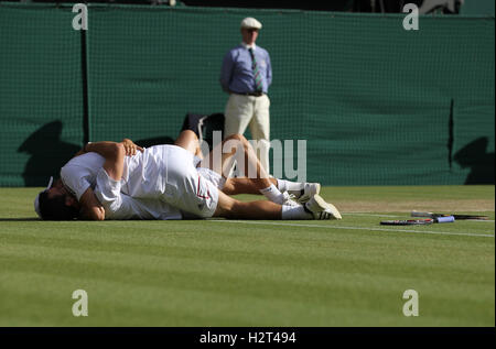
[[[224,138],[234,133],[244,134],[250,127],[251,137],[258,141],[257,156],[262,167],[270,173],[270,99],[267,95],[260,97],[230,94],[226,105]]]

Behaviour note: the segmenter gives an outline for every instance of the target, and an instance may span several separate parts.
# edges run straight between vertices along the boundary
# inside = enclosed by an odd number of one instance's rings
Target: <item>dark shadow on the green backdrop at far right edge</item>
[[[488,143],[487,137],[478,138],[454,155],[462,168],[471,168],[465,184],[494,184],[494,152],[486,152]]]

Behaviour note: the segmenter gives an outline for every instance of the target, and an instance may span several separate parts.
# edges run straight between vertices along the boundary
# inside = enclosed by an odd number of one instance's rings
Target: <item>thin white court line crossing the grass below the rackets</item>
[[[429,230],[410,230],[410,229],[382,229],[382,228],[365,228],[365,227],[343,227],[343,226],[315,226],[315,225],[298,225],[298,223],[283,223],[271,221],[252,221],[252,220],[207,220],[214,222],[227,222],[227,223],[245,223],[245,225],[268,225],[268,226],[285,226],[285,227],[305,227],[305,228],[326,228],[326,229],[351,229],[351,230],[376,230],[388,232],[418,232],[418,233],[431,233],[440,236],[463,236],[463,237],[484,237],[494,238],[492,233],[467,233],[467,232],[446,232],[446,231],[429,231]]]

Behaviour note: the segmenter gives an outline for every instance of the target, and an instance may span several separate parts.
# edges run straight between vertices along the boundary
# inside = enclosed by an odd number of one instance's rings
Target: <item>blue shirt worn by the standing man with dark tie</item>
[[[248,48],[248,45],[240,44],[224,56],[220,86],[226,92],[247,94],[256,90],[251,55]],[[270,56],[260,46],[254,44],[252,48],[262,80],[262,92],[267,94],[272,83]]]

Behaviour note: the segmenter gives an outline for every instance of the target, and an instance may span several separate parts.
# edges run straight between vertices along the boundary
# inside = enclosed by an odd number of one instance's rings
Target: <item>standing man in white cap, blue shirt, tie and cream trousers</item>
[[[257,156],[270,173],[270,100],[267,92],[272,83],[272,67],[269,53],[255,44],[261,28],[254,18],[241,21],[242,42],[225,55],[220,85],[229,94],[224,138],[244,134],[249,126],[252,138],[259,141]]]

